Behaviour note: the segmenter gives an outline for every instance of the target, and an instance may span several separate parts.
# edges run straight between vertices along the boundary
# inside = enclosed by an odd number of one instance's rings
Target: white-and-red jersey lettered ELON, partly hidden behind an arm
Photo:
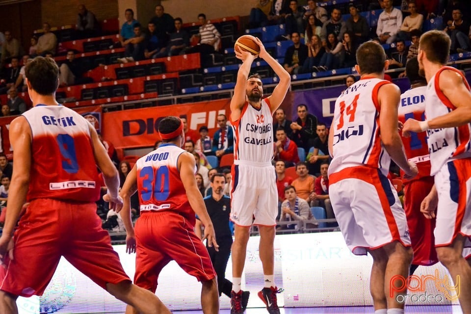
[[[419,121],[425,120],[425,92],[427,86],[416,87],[409,89],[401,95],[398,113],[399,121],[406,122],[407,119],[415,119]],[[426,132],[411,132],[410,137],[401,137],[404,143],[404,150],[406,157],[409,161],[415,162],[419,169],[419,174],[411,180],[402,180],[407,183],[414,180],[419,180],[423,177],[430,176],[430,154],[428,153],[427,146],[427,133]],[[401,175],[404,172],[401,169]]]

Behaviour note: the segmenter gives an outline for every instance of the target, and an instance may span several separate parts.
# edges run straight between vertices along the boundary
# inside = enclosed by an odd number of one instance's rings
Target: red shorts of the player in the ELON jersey
[[[420,204],[430,193],[432,186],[433,177],[430,176],[410,181],[404,185],[404,209],[414,250],[414,260],[412,261],[414,265],[429,266],[438,262],[433,236],[435,219],[427,219],[420,212]]]

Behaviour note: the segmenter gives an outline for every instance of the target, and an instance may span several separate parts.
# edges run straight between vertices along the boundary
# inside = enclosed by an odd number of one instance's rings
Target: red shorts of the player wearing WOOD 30
[[[134,284],[155,292],[160,271],[172,260],[198,281],[215,278],[208,250],[193,229],[178,213],[142,212],[135,226]]]

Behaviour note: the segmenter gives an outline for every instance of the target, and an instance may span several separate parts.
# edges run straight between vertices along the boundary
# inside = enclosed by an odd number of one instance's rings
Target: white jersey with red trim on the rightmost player
[[[443,70],[452,70],[463,77],[468,90],[470,86],[459,70],[452,67],[441,68],[428,82],[425,94],[425,116],[427,120],[443,116],[456,107],[446,98],[440,89],[439,78]],[[428,130],[428,150],[432,169],[430,174],[435,175],[448,161],[471,157],[471,124],[458,128],[443,128]]]

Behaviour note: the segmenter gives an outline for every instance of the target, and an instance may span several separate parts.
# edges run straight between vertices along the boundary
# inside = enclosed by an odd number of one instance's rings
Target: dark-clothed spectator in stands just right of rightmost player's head
[[[444,31],[451,39],[451,52],[467,52],[470,51],[470,21],[463,20],[463,14],[460,9],[454,9],[452,12],[453,22],[446,26]]]

